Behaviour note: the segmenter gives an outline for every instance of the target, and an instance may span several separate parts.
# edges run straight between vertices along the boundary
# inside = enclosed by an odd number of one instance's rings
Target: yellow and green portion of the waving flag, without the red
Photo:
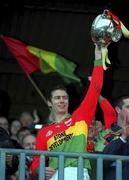
[[[45,74],[57,72],[66,82],[80,82],[79,77],[74,74],[76,64],[65,59],[63,56],[50,51],[45,51],[33,46],[28,46],[30,53],[40,59],[41,71]]]

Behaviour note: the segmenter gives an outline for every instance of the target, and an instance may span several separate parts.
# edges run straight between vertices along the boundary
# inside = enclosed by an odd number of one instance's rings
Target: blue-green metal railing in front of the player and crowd
[[[46,157],[57,157],[59,159],[58,180],[64,180],[64,158],[76,158],[78,161],[77,179],[83,180],[84,159],[96,160],[96,180],[103,180],[103,160],[116,162],[116,180],[122,180],[122,162],[129,161],[128,156],[104,155],[92,153],[66,153],[50,151],[34,151],[23,149],[3,149],[0,148],[0,180],[5,180],[6,155],[15,154],[19,157],[19,180],[25,180],[26,157],[31,155],[40,156],[39,180],[45,180],[45,159]]]

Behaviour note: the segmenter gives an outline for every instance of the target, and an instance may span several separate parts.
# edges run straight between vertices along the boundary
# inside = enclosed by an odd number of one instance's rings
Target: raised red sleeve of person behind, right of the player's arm
[[[115,123],[117,121],[116,111],[109,103],[109,101],[102,96],[99,96],[99,104],[104,115],[105,129],[110,128],[112,123]]]

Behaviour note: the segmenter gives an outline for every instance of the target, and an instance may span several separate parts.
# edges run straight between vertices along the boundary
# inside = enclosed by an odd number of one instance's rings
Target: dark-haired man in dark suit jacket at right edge
[[[117,111],[117,124],[122,128],[120,136],[112,140],[104,148],[104,154],[129,155],[129,96],[118,98],[115,102]],[[116,179],[115,162],[105,161],[104,180]],[[129,179],[129,162],[122,163],[122,180]]]

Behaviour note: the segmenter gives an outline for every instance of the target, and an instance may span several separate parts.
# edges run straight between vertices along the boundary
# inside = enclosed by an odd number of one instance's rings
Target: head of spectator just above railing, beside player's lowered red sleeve
[[[22,138],[22,147],[24,149],[34,150],[36,145],[36,137],[33,134],[27,134]]]

